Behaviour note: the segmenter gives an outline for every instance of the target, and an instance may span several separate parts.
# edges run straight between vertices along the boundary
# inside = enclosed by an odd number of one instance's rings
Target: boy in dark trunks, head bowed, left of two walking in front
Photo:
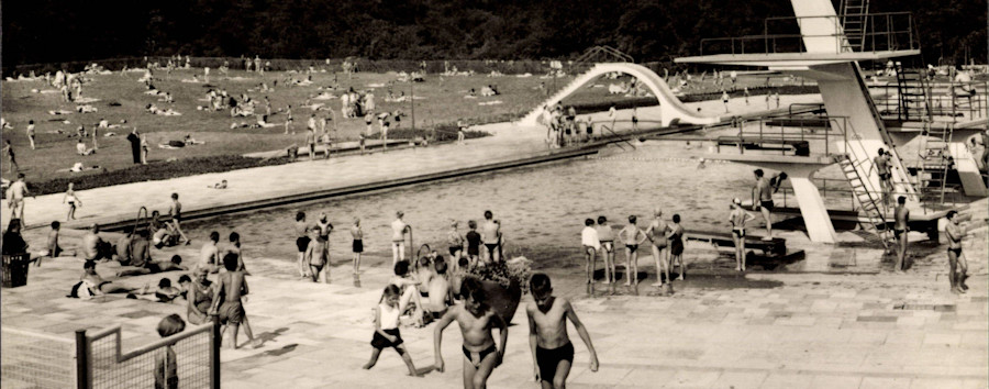
[[[460,286],[464,303],[449,309],[433,330],[433,351],[436,369],[443,373],[445,364],[441,344],[443,330],[454,321],[459,324],[464,337],[464,388],[485,388],[494,367],[501,365],[508,342],[508,325],[491,307],[486,303],[485,290],[476,278],[466,278]],[[498,327],[501,347],[494,346],[491,329]]]

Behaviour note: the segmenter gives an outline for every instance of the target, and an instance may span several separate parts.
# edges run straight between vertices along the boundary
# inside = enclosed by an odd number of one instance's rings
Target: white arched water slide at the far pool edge
[[[647,88],[649,88],[649,91],[653,92],[653,96],[656,97],[656,100],[659,100],[660,121],[664,126],[676,123],[714,124],[721,121],[721,118],[719,116],[700,115],[689,107],[684,105],[684,103],[680,102],[680,99],[677,99],[677,97],[674,96],[673,91],[669,90],[669,86],[666,85],[666,81],[663,80],[663,77],[659,77],[659,75],[657,75],[653,70],[649,70],[645,66],[632,63],[607,63],[597,64],[594,65],[594,67],[590,68],[590,70],[584,73],[580,76],[577,76],[577,78],[570,81],[570,84],[554,93],[546,101],[543,101],[543,103],[532,110],[532,112],[529,112],[529,114],[519,120],[518,124],[532,126],[537,125],[536,119],[543,112],[543,107],[553,107],[560,100],[586,86],[588,82],[591,82],[598,77],[601,77],[605,74],[614,71],[635,77]]]

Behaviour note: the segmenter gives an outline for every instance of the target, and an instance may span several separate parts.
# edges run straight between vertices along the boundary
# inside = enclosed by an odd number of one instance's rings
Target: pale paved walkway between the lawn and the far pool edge
[[[784,96],[782,107],[794,102],[819,101],[820,96]],[[700,107],[703,112],[720,114],[723,112],[721,101],[690,103]],[[745,104],[741,99],[731,101],[733,113],[757,112],[765,105]],[[642,120],[656,119],[658,108],[638,110]],[[596,121],[604,122],[605,113],[596,115]],[[629,120],[631,110],[619,112],[620,120]],[[619,124],[616,131],[627,130],[630,124]],[[113,187],[77,191],[84,207],[76,211],[80,218],[66,226],[79,227],[92,222],[108,223],[132,220],[137,210],[144,205],[149,210],[167,211],[169,196],[178,192],[184,211],[209,209],[289,194],[299,194],[318,190],[343,188],[354,185],[380,182],[458,168],[489,165],[519,159],[546,152],[544,142],[545,127],[521,127],[511,123],[498,123],[478,126],[477,130],[492,134],[478,140],[470,140],[467,145],[444,144],[431,147],[404,148],[387,153],[368,155],[348,155],[329,160],[299,162],[279,166],[267,166],[233,170],[218,174],[205,174],[191,177],[174,178],[159,181],[133,182]],[[181,162],[177,162],[181,163]],[[211,189],[214,184],[227,180],[229,189]],[[65,219],[66,205],[63,194],[54,193],[29,198],[25,201],[24,219],[29,226],[44,226],[53,220]],[[8,220],[10,209],[7,202],[0,204],[0,216]]]

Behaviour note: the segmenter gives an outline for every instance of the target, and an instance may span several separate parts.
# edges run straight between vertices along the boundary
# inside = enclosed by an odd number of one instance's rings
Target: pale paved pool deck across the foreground
[[[986,201],[978,210],[984,212]],[[646,284],[637,296],[585,293],[580,275],[547,269],[557,296],[569,298],[588,327],[601,363],[588,369],[588,354],[570,330],[577,351],[571,388],[985,388],[989,382],[989,277],[986,227],[966,242],[974,276],[967,294],[947,291],[943,248],[920,247],[904,275],[821,275],[692,270],[675,281],[676,293],[659,296]],[[42,240],[35,237],[32,243]],[[858,255],[878,252],[855,248]],[[165,253],[195,256],[198,245]],[[829,257],[811,248],[810,257]],[[881,253],[879,253],[881,255]],[[369,258],[370,259],[370,258]],[[375,258],[386,260],[387,258]],[[888,258],[887,258],[888,260]],[[641,258],[649,271],[651,258]],[[120,324],[123,349],[158,340],[155,324],[169,313],[185,315],[184,301],[156,303],[122,297],[67,299],[82,260],[63,257],[31,268],[25,287],[2,290],[2,325],[71,338],[77,329]],[[362,288],[352,286],[349,260],[335,260],[330,285],[300,281],[284,259],[252,258],[252,293],[245,302],[260,348],[221,352],[227,388],[458,388],[460,335],[444,336],[446,373],[405,376],[393,352],[382,353],[370,371],[370,308],[389,271],[367,266]],[[116,268],[101,264],[104,276]],[[579,273],[579,271],[578,271]],[[168,275],[170,278],[178,274]],[[162,275],[120,279],[154,284]],[[599,284],[600,286],[600,284]],[[523,303],[530,301],[523,297]],[[519,310],[509,329],[504,364],[492,388],[536,388],[532,382],[527,325]],[[420,370],[433,364],[433,326],[402,327]],[[241,335],[241,342],[245,341]]]

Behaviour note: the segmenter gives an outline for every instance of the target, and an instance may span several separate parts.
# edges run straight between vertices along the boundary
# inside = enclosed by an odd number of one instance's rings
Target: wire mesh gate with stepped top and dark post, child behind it
[[[186,330],[126,354],[119,326],[87,336],[91,388],[210,388],[211,330]]]

